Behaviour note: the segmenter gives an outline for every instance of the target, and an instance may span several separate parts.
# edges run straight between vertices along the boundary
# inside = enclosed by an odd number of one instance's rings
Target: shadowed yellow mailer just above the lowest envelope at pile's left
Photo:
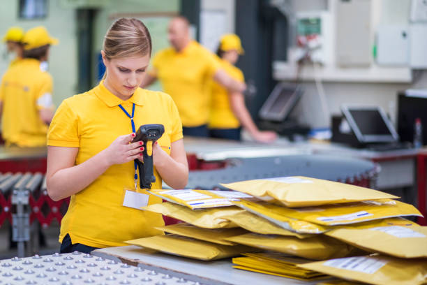
[[[197,228],[190,224],[175,224],[170,226],[158,226],[156,229],[165,231],[166,233],[174,233],[196,240],[204,240],[205,242],[213,242],[216,244],[235,245],[234,242],[229,242],[225,238],[243,235],[248,231],[243,228]]]

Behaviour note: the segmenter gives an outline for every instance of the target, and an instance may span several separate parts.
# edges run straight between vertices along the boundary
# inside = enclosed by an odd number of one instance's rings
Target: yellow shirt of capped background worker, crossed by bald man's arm
[[[231,78],[244,82],[244,75],[239,68],[223,59],[218,59],[220,66]],[[240,122],[230,106],[230,95],[227,89],[211,80],[211,112],[209,117],[209,128],[211,129],[235,129],[239,128]]]

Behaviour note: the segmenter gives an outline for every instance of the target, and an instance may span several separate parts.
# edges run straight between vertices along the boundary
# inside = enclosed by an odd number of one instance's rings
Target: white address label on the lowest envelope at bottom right
[[[366,274],[373,274],[386,264],[387,261],[365,256],[331,259],[323,263],[323,265],[333,268],[358,271]]]

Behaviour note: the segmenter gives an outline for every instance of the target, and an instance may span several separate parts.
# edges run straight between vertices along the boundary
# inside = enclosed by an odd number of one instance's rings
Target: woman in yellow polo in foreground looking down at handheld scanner
[[[161,214],[141,207],[161,203],[135,184],[135,159],[144,147],[135,127],[162,124],[153,145],[153,189],[162,180],[182,189],[188,180],[182,124],[172,98],[141,89],[151,55],[151,38],[140,20],[121,18],[105,35],[101,51],[106,72],[98,86],[59,106],[47,133],[47,193],[71,197],[61,221],[61,252],[89,253],[100,247],[160,235]],[[141,177],[140,177],[141,179]]]

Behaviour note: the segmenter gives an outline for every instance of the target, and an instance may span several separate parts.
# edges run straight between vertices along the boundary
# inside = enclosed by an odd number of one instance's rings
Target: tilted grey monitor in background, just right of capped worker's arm
[[[262,105],[259,115],[261,119],[283,122],[290,115],[301,98],[302,92],[297,85],[280,82]]]

